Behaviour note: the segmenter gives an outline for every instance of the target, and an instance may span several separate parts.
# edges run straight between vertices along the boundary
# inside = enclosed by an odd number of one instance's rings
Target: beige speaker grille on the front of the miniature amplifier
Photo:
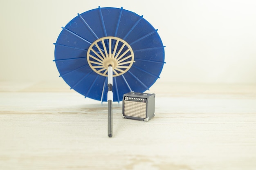
[[[146,118],[146,103],[124,101],[124,115],[132,117]]]

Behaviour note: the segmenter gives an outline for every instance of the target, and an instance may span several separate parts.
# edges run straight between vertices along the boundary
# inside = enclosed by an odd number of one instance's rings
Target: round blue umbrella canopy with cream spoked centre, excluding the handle
[[[56,66],[78,93],[107,101],[108,66],[113,68],[113,101],[130,91],[143,93],[159,78],[164,46],[142,16],[123,8],[97,8],[72,19],[55,44]]]

